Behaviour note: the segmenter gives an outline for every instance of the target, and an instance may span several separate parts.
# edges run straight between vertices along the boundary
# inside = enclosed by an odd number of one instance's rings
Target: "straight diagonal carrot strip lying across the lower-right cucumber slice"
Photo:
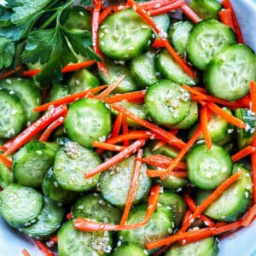
[[[235,183],[241,177],[241,171],[236,172],[229,178],[227,178],[224,183],[221,183],[217,189],[215,189],[211,195],[209,195],[204,201],[201,202],[201,205],[196,208],[195,212],[193,212],[189,221],[185,224],[185,228],[188,229],[190,224],[192,224],[197,218],[197,216],[203,212],[207,207],[209,207],[213,201],[216,201],[218,197],[228,189],[233,183]]]

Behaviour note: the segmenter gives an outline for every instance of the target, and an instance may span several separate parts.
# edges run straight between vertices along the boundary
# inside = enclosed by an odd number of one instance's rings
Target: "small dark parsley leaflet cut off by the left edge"
[[[0,69],[9,67],[15,55],[15,44],[6,38],[0,38]]]

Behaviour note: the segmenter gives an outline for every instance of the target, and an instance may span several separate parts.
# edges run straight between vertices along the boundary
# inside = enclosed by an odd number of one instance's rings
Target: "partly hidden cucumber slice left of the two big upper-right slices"
[[[189,21],[174,22],[169,30],[168,38],[171,41],[177,54],[187,57],[187,44],[189,41],[189,32],[193,28],[193,24]]]

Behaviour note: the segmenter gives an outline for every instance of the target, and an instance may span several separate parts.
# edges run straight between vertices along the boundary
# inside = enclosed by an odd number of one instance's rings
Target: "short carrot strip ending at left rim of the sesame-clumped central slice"
[[[116,102],[144,102],[145,90],[138,90],[127,92],[124,94],[117,94],[115,96],[110,96],[104,99],[104,102],[108,104],[116,103]]]

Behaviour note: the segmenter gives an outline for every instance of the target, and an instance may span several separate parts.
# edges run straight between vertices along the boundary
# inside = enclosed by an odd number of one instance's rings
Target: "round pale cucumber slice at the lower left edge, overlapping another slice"
[[[14,228],[36,222],[43,207],[43,197],[35,189],[11,184],[0,193],[0,213]]]

